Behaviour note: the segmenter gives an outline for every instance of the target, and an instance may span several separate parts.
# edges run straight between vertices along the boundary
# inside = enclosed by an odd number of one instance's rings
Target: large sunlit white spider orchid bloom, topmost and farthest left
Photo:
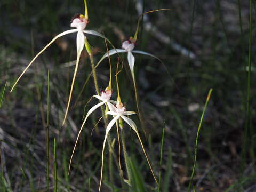
[[[63,124],[65,123],[65,119],[67,117],[68,114],[68,109],[69,109],[69,105],[70,105],[70,101],[71,101],[71,95],[73,92],[73,87],[74,87],[74,83],[75,83],[75,78],[76,78],[76,73],[77,73],[77,69],[78,69],[78,64],[79,64],[79,59],[80,59],[80,55],[81,52],[83,51],[84,45],[88,46],[86,43],[86,37],[84,36],[85,34],[90,34],[90,35],[95,35],[95,36],[99,36],[102,38],[107,39],[105,36],[101,35],[100,33],[98,33],[97,31],[94,30],[84,30],[87,23],[88,23],[88,15],[87,15],[87,6],[86,6],[86,2],[85,2],[85,16],[82,14],[76,14],[73,19],[71,20],[71,24],[70,27],[76,27],[76,29],[70,29],[70,30],[66,30],[62,33],[60,33],[59,35],[57,35],[56,37],[54,37],[52,39],[52,41],[50,43],[48,43],[34,58],[33,60],[30,61],[30,63],[28,64],[28,66],[22,71],[21,75],[19,76],[19,78],[17,79],[17,81],[14,83],[14,85],[12,86],[11,92],[14,89],[15,85],[19,82],[20,78],[23,76],[23,74],[25,74],[25,72],[27,71],[27,69],[31,66],[31,64],[36,60],[36,58],[43,53],[47,47],[49,47],[57,38],[67,35],[67,34],[71,34],[71,33],[77,33],[76,36],[76,48],[77,48],[77,59],[76,59],[76,67],[75,67],[75,71],[74,71],[74,76],[73,76],[73,80],[71,83],[71,87],[70,87],[70,92],[69,92],[69,99],[68,99],[68,104],[67,104],[67,109],[66,109],[66,113],[65,113],[65,117],[63,119]],[[107,41],[109,41],[107,39]],[[63,125],[62,124],[62,125]]]

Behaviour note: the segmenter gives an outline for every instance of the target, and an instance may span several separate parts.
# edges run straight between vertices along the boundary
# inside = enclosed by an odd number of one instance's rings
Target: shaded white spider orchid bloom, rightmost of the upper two
[[[123,49],[112,49],[112,50],[109,50],[107,53],[105,53],[103,55],[103,57],[100,59],[100,61],[98,62],[97,65],[99,65],[99,63],[107,58],[107,57],[110,57],[111,55],[113,54],[116,54],[116,53],[125,53],[127,52],[127,60],[128,60],[128,64],[129,64],[129,67],[130,67],[130,70],[131,70],[131,74],[132,74],[132,78],[133,78],[133,82],[135,82],[135,78],[134,78],[134,63],[135,63],[135,58],[133,56],[132,53],[139,53],[139,54],[144,54],[144,55],[148,55],[148,56],[151,56],[159,61],[161,61],[159,58],[157,58],[155,55],[153,54],[150,54],[150,53],[147,53],[147,52],[144,52],[144,51],[137,51],[137,50],[133,50],[134,47],[135,47],[135,41],[132,37],[129,38],[129,40],[126,40],[122,43],[122,48]]]

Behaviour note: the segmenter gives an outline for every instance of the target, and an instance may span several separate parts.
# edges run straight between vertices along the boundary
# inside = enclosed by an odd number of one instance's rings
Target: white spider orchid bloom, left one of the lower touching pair
[[[106,104],[110,110],[114,110],[114,109],[113,109],[113,105],[112,105],[111,103],[117,103],[117,102],[116,102],[116,101],[113,101],[113,100],[110,100],[112,93],[113,93],[113,91],[111,90],[111,88],[110,88],[110,87],[107,87],[107,88],[105,89],[105,91],[101,91],[101,95],[100,95],[100,96],[99,96],[99,95],[93,95],[93,96],[92,96],[92,97],[95,97],[95,98],[99,99],[101,102],[98,103],[97,105],[94,105],[94,106],[87,112],[87,114],[86,114],[86,116],[85,116],[85,119],[84,119],[84,121],[83,121],[83,124],[82,124],[82,126],[81,126],[81,128],[80,128],[80,130],[79,130],[78,135],[77,135],[76,143],[75,143],[75,146],[74,146],[74,149],[73,149],[71,158],[70,158],[69,170],[68,170],[68,172],[70,171],[71,161],[72,161],[72,158],[73,158],[73,154],[74,154],[74,152],[75,152],[75,149],[76,149],[77,141],[78,141],[78,139],[79,139],[79,136],[80,136],[80,134],[81,134],[81,132],[82,132],[82,130],[83,130],[84,124],[85,124],[87,118],[89,117],[89,115],[90,115],[95,109],[99,108],[100,106],[102,106],[102,105],[104,105],[104,104]]]

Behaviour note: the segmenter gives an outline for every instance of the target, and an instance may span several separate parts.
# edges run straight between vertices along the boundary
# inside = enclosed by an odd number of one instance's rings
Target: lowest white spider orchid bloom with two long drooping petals
[[[105,138],[104,138],[104,141],[103,141],[103,148],[102,148],[102,157],[101,157],[101,176],[100,176],[100,187],[99,187],[99,190],[101,188],[101,182],[102,182],[102,172],[103,172],[103,160],[104,160],[104,149],[105,149],[105,145],[106,145],[106,141],[107,141],[107,137],[108,137],[108,133],[109,131],[111,130],[111,128],[114,126],[115,123],[118,122],[118,119],[119,118],[122,118],[131,128],[133,131],[135,131],[135,133],[137,134],[137,137],[140,141],[140,145],[141,145],[141,148],[143,150],[143,153],[145,154],[146,156],[146,159],[147,159],[147,162],[148,162],[148,165],[150,167],[150,171],[151,173],[153,174],[153,177],[157,183],[157,180],[156,180],[156,177],[154,175],[154,172],[153,172],[153,169],[149,163],[149,160],[148,160],[148,157],[147,157],[147,154],[146,154],[146,151],[143,147],[143,144],[142,144],[142,141],[140,139],[140,135],[139,135],[139,132],[137,130],[137,126],[136,124],[132,121],[132,119],[126,117],[127,115],[134,115],[134,114],[137,114],[135,113],[134,111],[126,111],[126,108],[125,106],[123,105],[122,102],[119,102],[117,101],[116,103],[116,106],[114,106],[113,104],[109,103],[109,105],[111,107],[109,107],[110,111],[108,111],[106,114],[107,115],[113,115],[113,119],[109,122],[108,126],[107,126],[107,129],[106,129],[106,133],[105,133]]]

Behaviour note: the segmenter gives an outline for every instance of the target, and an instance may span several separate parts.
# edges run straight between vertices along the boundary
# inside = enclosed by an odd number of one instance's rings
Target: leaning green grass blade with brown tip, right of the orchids
[[[188,186],[188,191],[190,190],[191,184],[193,182],[194,174],[195,174],[196,155],[197,155],[197,146],[198,146],[199,133],[200,133],[200,129],[201,129],[201,126],[202,126],[203,119],[204,119],[205,110],[207,108],[208,102],[209,102],[210,97],[211,97],[211,93],[212,93],[212,89],[210,89],[210,91],[207,95],[206,102],[205,102],[205,105],[204,105],[204,110],[203,110],[203,113],[202,113],[202,116],[201,116],[201,119],[200,119],[200,122],[199,122],[199,126],[198,126],[198,129],[197,129],[196,145],[195,145],[195,153],[194,153],[195,154],[194,155],[194,164],[193,164],[193,170],[192,170],[192,173],[191,173],[191,178],[190,178],[190,182],[189,182],[189,186]]]

